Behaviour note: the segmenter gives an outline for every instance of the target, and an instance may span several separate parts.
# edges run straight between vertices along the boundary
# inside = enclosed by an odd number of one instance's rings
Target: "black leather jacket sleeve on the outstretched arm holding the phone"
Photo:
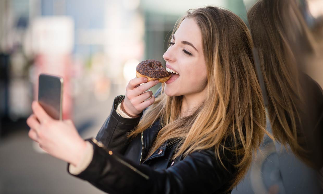
[[[173,167],[156,170],[112,152],[95,139],[89,142],[93,145],[92,161],[80,174],[71,175],[110,194],[214,193],[234,174],[233,165],[224,161],[224,169],[212,150],[194,152]]]

